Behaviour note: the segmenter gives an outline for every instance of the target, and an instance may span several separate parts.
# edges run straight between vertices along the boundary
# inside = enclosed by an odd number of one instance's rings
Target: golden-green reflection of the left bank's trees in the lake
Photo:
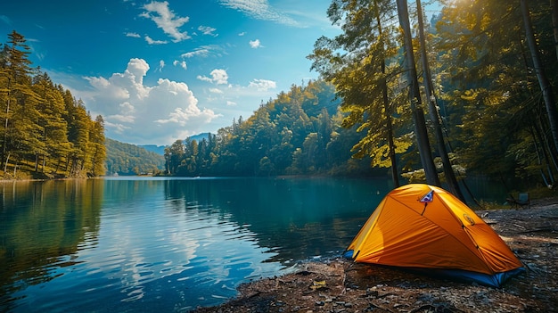
[[[86,235],[96,242],[103,180],[11,181],[0,190],[0,290],[6,297],[52,280],[53,268],[76,264],[62,257],[78,251]]]

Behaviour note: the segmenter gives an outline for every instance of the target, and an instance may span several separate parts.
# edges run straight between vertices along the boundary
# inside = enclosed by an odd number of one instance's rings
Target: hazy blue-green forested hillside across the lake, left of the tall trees
[[[332,85],[310,81],[262,103],[249,119],[217,135],[176,140],[165,169],[177,176],[371,175],[370,159],[351,159],[356,128],[343,115]]]

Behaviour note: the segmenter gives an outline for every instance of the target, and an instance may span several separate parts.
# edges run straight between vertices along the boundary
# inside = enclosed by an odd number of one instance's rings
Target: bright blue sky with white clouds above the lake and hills
[[[249,118],[318,78],[307,55],[341,30],[329,0],[6,1],[0,42],[81,99],[105,136],[168,145]]]

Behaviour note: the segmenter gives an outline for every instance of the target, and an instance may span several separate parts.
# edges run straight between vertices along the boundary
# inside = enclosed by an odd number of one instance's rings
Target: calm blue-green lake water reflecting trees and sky
[[[239,284],[339,256],[391,189],[334,178],[3,182],[0,311],[216,305]]]

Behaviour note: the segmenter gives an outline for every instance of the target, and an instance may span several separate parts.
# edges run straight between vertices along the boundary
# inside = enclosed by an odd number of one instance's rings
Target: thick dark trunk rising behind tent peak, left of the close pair
[[[414,65],[413,40],[411,37],[411,26],[409,22],[409,12],[406,0],[397,0],[399,25],[403,29],[403,40],[406,52],[406,76],[411,84],[409,89],[409,101],[411,102],[411,111],[413,112],[414,132],[416,142],[423,163],[426,183],[430,185],[439,185],[439,177],[432,160],[431,144],[428,139],[428,130],[424,121],[424,111],[421,102],[421,94],[419,91],[418,78],[416,76],[416,67]]]

